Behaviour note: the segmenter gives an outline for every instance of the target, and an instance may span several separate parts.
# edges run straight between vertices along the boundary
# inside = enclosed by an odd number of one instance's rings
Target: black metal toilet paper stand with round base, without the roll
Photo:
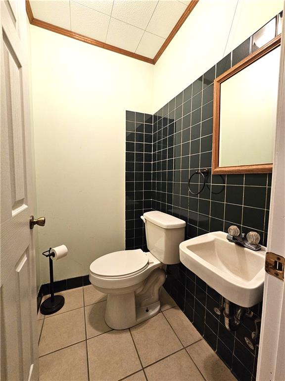
[[[61,295],[55,295],[54,296],[54,289],[53,289],[53,267],[52,267],[52,259],[51,256],[54,256],[54,254],[50,253],[51,248],[43,253],[43,255],[48,257],[49,262],[49,293],[50,297],[47,298],[42,304],[40,311],[43,315],[51,315],[55,312],[59,311],[64,306],[64,297]],[[48,254],[46,254],[48,253]]]

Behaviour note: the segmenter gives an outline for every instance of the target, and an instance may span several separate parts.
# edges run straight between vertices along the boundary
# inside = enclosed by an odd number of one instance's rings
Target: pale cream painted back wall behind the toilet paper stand
[[[152,110],[153,67],[35,26],[31,44],[38,252],[65,244],[65,279],[125,247],[125,111]]]

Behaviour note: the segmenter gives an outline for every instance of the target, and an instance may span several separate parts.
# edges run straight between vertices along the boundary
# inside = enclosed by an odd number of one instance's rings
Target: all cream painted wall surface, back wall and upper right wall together
[[[282,6],[200,0],[155,66],[31,26],[38,215],[47,217],[38,252],[69,249],[55,279],[124,249],[125,110],[157,111]]]

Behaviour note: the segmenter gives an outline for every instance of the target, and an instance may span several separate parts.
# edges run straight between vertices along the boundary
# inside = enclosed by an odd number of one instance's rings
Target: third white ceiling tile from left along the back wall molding
[[[135,52],[143,30],[111,17],[106,43]]]

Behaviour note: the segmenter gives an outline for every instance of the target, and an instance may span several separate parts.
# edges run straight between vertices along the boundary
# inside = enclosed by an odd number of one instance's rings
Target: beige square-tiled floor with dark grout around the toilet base
[[[164,289],[161,312],[122,331],[92,285],[60,294],[64,307],[38,316],[40,381],[236,380]]]

